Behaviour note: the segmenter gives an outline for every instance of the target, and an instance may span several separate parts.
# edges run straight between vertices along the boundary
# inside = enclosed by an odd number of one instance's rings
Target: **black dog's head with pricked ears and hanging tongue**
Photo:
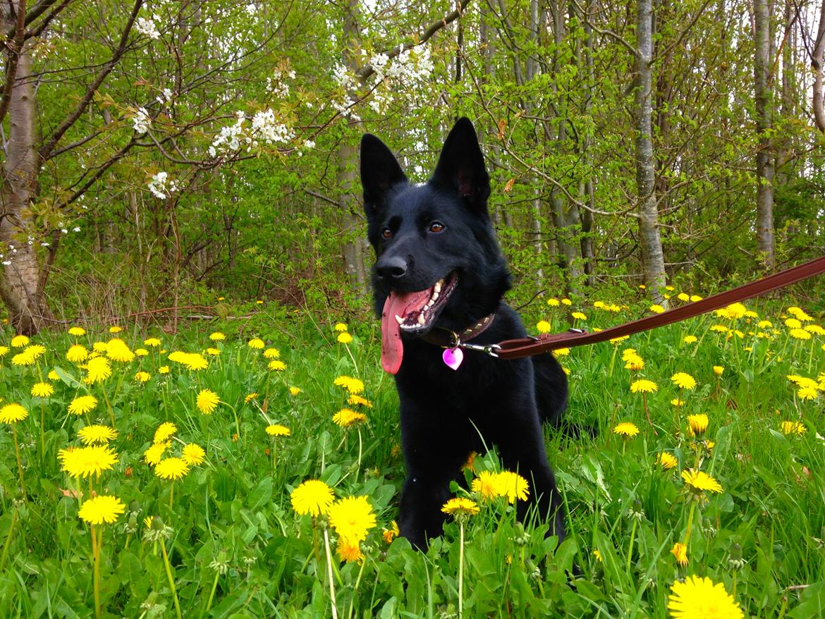
[[[374,135],[361,139],[372,284],[382,314],[382,364],[401,366],[402,334],[461,331],[492,313],[510,287],[487,210],[490,178],[473,124],[455,123],[430,180],[413,185]]]

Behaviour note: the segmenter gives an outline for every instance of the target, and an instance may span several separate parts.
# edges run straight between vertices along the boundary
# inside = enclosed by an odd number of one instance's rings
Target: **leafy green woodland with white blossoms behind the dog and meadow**
[[[458,116],[522,300],[644,284],[662,302],[801,262],[823,253],[823,17],[3,0],[2,300],[21,333],[217,295],[363,309],[359,139],[424,181]]]

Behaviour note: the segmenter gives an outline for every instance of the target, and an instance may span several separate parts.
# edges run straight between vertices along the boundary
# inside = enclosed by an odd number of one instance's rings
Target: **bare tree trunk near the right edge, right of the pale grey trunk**
[[[773,147],[771,144],[771,8],[767,0],[753,3],[754,92],[757,115],[757,251],[765,266],[775,265],[773,224]]]

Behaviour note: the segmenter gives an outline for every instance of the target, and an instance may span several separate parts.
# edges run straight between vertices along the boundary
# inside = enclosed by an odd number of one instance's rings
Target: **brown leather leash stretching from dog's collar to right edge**
[[[668,309],[662,314],[654,314],[647,318],[634,320],[629,323],[620,324],[615,327],[606,328],[597,333],[587,333],[583,329],[570,329],[565,333],[542,333],[538,337],[508,339],[497,344],[488,346],[473,346],[474,349],[486,352],[492,357],[502,359],[518,359],[521,357],[532,357],[542,352],[550,352],[558,348],[573,346],[583,346],[584,344],[595,344],[606,342],[609,339],[621,338],[625,335],[633,335],[652,328],[663,327],[693,318],[700,314],[705,314],[714,309],[720,309],[736,303],[752,299],[766,292],[775,291],[783,286],[790,286],[798,281],[808,279],[825,272],[825,256],[817,258],[811,262],[805,262],[798,267],[792,267],[785,271],[762,277],[757,281],[752,281],[744,286],[738,286],[733,290],[720,292],[718,295],[709,296],[707,299],[695,301],[687,305],[681,305],[675,309]],[[464,345],[463,347],[469,347]]]

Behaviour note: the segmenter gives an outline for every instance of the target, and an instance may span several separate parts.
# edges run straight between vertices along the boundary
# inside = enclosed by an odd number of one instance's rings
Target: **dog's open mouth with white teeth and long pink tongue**
[[[458,276],[450,273],[423,291],[390,292],[381,313],[381,366],[398,373],[403,358],[401,332],[425,333],[450,298]]]

